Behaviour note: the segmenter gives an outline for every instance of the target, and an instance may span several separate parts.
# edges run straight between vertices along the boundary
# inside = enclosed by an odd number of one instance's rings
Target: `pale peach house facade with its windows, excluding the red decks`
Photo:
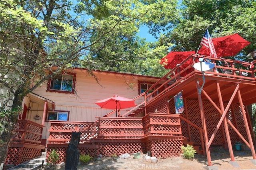
[[[72,85],[65,84],[64,79],[68,79]],[[100,108],[94,102],[113,95],[133,99],[159,79],[112,71],[93,71],[92,75],[85,69],[74,68],[54,77],[28,94],[24,99],[24,108],[27,108],[27,111],[24,111],[21,117],[46,126],[42,132],[42,144],[46,145],[49,121],[94,122],[97,120],[96,117],[103,117],[112,111]],[[44,113],[45,101],[48,108]],[[142,99],[136,100],[136,104],[141,102]],[[120,115],[126,111],[128,109],[122,109]]]

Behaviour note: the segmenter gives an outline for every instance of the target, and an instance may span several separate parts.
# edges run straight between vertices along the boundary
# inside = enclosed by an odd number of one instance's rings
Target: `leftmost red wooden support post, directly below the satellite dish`
[[[210,155],[210,148],[208,147],[208,135],[207,135],[207,129],[206,129],[206,122],[205,122],[205,117],[204,117],[204,108],[203,108],[203,103],[202,103],[202,97],[200,93],[200,85],[199,81],[197,81],[197,96],[198,96],[198,103],[200,107],[200,114],[201,114],[201,120],[202,120],[202,127],[203,127],[203,132],[204,132],[204,145],[205,145],[205,150],[206,150],[206,157],[208,161],[208,166],[212,166],[212,160],[211,160],[211,155]],[[202,146],[203,147],[203,146]]]

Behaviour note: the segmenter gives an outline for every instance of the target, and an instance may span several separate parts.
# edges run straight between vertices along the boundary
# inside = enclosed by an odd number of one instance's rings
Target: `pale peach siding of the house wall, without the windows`
[[[138,80],[140,81],[157,81],[157,78],[152,77],[135,77],[132,75],[113,74],[113,73],[95,73],[98,83],[93,76],[88,75],[85,71],[78,70],[76,72],[76,95],[67,93],[56,93],[46,91],[47,83],[38,87],[33,93],[40,95],[46,99],[49,99],[55,103],[55,110],[70,111],[69,121],[96,121],[96,117],[102,117],[112,111],[112,109],[102,109],[94,102],[118,95],[133,99],[138,96]],[[132,88],[129,87],[132,85]],[[135,104],[138,105],[143,100],[136,100]],[[28,119],[34,120],[35,115],[42,117],[42,110],[44,106],[36,106],[35,103],[32,106],[32,110],[28,114]],[[34,111],[38,109],[39,111]],[[130,109],[122,109],[121,114],[126,113]],[[112,115],[116,117],[114,113]],[[43,120],[42,120],[43,119]],[[42,118],[40,121],[44,121]],[[38,121],[37,123],[40,123]],[[45,122],[46,128],[43,130],[43,139],[47,139],[49,136],[48,129],[50,123]]]

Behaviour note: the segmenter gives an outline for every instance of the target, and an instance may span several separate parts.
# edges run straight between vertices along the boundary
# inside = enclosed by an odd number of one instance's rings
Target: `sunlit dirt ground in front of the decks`
[[[145,154],[140,154],[139,159],[130,156],[127,159],[113,159],[104,157],[101,160],[94,160],[87,165],[78,165],[78,170],[205,170],[207,166],[206,156],[195,154],[193,160],[182,157],[159,159],[156,163],[146,161]],[[222,147],[213,148],[211,151],[212,169],[218,170],[256,170],[252,163],[250,151],[234,151],[235,164],[230,164],[229,152]],[[214,168],[217,167],[217,168]],[[60,170],[64,170],[61,168]]]

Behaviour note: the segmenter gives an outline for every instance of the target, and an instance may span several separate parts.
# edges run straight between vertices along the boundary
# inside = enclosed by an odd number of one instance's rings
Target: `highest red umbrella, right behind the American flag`
[[[212,43],[214,45],[217,57],[234,56],[244,47],[250,44],[250,42],[244,40],[237,33],[230,36],[213,38]],[[210,52],[205,46],[202,46],[199,49],[198,54],[210,56]]]

